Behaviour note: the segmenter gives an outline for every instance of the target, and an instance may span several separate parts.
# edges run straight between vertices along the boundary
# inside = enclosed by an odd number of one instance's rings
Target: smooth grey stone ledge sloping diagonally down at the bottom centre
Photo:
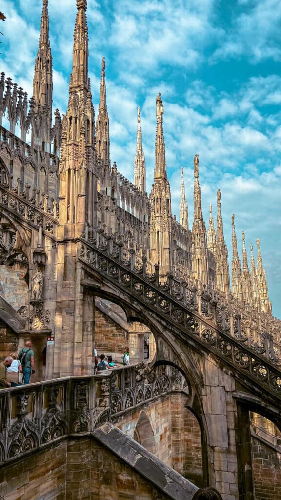
[[[197,490],[197,486],[192,482],[165,465],[111,423],[96,428],[92,435],[170,498],[191,500]]]

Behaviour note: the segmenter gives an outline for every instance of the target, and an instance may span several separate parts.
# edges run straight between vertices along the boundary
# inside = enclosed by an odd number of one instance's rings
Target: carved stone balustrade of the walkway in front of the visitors
[[[125,366],[0,390],[0,463],[68,435],[87,434],[120,413],[183,388],[174,367]]]

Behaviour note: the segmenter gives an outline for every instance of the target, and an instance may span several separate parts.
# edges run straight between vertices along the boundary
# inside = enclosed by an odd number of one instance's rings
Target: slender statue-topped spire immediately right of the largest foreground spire
[[[109,160],[109,119],[106,108],[105,59],[101,61],[98,115],[96,119],[96,152],[104,160]]]

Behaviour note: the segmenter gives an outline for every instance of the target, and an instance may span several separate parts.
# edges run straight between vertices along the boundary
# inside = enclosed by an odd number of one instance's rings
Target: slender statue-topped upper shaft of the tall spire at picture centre
[[[163,101],[161,92],[156,97],[156,139],[155,139],[155,169],[154,180],[158,178],[167,179],[166,158],[165,158],[165,142],[163,135]]]

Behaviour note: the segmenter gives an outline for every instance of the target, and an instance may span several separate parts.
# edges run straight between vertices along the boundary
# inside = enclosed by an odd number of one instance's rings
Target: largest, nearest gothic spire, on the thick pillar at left
[[[59,222],[72,224],[65,234],[79,237],[85,223],[95,223],[93,193],[96,191],[94,149],[94,109],[88,80],[88,33],[86,0],[76,0],[73,65],[69,79],[69,99],[62,118],[59,160]],[[87,173],[86,173],[87,172]],[[67,232],[68,231],[68,232]],[[70,232],[69,232],[70,231]]]

